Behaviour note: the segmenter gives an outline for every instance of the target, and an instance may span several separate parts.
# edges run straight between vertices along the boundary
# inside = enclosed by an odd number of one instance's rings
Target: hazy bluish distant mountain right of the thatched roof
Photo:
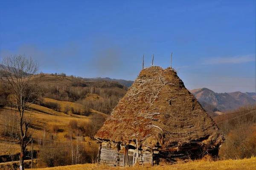
[[[240,91],[233,93],[215,93],[208,88],[194,89],[190,92],[195,95],[203,107],[206,105],[205,103],[207,103],[219,111],[233,110],[240,106],[253,105],[256,103],[255,93],[241,93]]]

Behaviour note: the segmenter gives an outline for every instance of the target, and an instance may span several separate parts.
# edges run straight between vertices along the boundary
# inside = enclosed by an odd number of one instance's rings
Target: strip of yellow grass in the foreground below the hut
[[[173,165],[158,165],[151,167],[108,167],[97,164],[79,164],[64,167],[41,168],[34,170],[255,170],[256,157],[241,160],[225,161],[189,161]]]

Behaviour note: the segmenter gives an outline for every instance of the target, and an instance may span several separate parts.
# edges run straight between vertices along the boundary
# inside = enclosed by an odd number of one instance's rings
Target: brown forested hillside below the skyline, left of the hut
[[[75,102],[105,114],[111,113],[119,99],[128,90],[125,85],[118,82],[85,81],[81,77],[66,76],[64,73],[41,73],[37,79],[40,79],[40,88],[43,91],[41,99]],[[0,81],[0,105],[10,106],[9,99],[11,99],[10,92],[5,91]],[[41,103],[38,99],[38,104],[41,105]]]

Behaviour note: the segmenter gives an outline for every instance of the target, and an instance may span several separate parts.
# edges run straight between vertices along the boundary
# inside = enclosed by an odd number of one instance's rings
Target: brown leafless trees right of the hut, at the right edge
[[[214,117],[218,127],[225,134],[225,142],[219,153],[220,159],[244,159],[255,156],[256,105],[243,106],[226,114]]]

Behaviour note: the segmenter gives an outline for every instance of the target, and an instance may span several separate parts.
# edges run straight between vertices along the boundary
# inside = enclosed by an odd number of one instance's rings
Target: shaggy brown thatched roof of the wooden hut
[[[176,71],[157,66],[140,72],[95,138],[116,143],[138,139],[151,147],[223,142],[223,134]]]

